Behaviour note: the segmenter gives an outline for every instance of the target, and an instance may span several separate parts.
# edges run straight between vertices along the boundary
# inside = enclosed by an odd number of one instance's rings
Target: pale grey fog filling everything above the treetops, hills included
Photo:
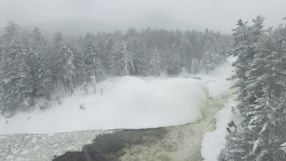
[[[266,17],[266,27],[276,26],[286,16],[285,6],[286,0],[0,0],[0,27],[15,20],[24,28],[38,26],[47,32],[147,26],[230,32],[238,18],[257,15]]]

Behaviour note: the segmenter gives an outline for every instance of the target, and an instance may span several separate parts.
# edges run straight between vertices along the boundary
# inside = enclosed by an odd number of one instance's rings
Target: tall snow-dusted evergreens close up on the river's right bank
[[[232,30],[240,102],[233,111],[242,123],[226,137],[222,161],[286,161],[286,26],[265,29],[264,19],[239,19]]]

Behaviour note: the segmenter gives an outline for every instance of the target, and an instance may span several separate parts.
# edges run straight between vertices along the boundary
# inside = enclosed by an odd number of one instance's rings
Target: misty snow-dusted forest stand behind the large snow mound
[[[213,70],[226,61],[232,39],[228,34],[196,30],[147,28],[125,34],[87,32],[69,36],[56,32],[52,39],[39,28],[23,31],[8,21],[0,37],[0,112],[15,113],[35,106],[35,97],[58,99],[59,89],[73,94],[83,84],[106,76],[177,76]],[[64,32],[64,31],[63,31]],[[52,96],[56,96],[53,98]]]

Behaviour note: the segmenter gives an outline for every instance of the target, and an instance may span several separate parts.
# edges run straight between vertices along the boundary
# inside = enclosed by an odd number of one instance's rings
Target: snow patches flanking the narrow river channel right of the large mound
[[[216,116],[216,129],[212,132],[206,132],[202,140],[201,155],[204,161],[218,161],[218,155],[224,148],[226,143],[225,135],[228,131],[225,129],[228,127],[227,123],[234,121],[238,129],[240,128],[240,118],[238,115],[231,112],[232,106],[236,106],[236,95],[232,95],[235,90],[230,90],[232,81],[226,81],[232,75],[232,66],[230,65],[236,58],[230,58],[227,64],[222,65],[214,72],[210,73],[208,77],[212,77],[213,81],[207,83],[210,96],[214,99],[228,97],[228,102]],[[211,108],[211,107],[209,107]]]

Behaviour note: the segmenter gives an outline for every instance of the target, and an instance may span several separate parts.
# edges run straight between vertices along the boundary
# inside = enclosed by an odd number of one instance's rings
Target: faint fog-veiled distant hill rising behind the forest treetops
[[[199,31],[204,31],[205,28],[189,24],[178,20],[172,16],[164,15],[144,15],[138,16],[131,19],[122,19],[117,22],[105,22],[99,21],[93,18],[83,18],[83,19],[69,19],[69,20],[57,20],[57,21],[47,21],[44,23],[30,23],[30,24],[19,24],[22,29],[32,31],[34,27],[39,27],[43,34],[52,36],[54,32],[61,31],[68,35],[84,35],[87,31],[90,32],[114,32],[115,30],[121,30],[126,32],[128,28],[135,27],[138,31],[141,29],[146,29],[148,26],[152,29],[154,28],[164,28],[168,30],[172,29],[197,29]],[[3,34],[3,27],[0,29],[0,34]]]

